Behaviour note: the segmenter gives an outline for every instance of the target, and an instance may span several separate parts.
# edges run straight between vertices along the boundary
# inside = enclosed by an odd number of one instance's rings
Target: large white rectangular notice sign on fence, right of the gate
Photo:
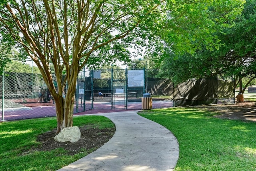
[[[128,70],[128,87],[144,86],[144,70]]]

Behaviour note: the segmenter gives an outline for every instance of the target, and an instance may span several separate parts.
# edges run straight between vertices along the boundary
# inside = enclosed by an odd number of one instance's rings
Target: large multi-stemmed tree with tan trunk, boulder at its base
[[[87,63],[112,60],[111,55],[99,56],[105,54],[103,51],[111,54],[112,48],[118,47],[118,44],[122,47],[126,44],[128,47],[136,40],[143,42],[143,39],[155,35],[164,38],[168,44],[173,44],[172,40],[178,40],[171,36],[177,33],[176,30],[182,28],[178,32],[180,34],[196,27],[191,32],[193,34],[200,28],[206,30],[199,27],[205,22],[208,22],[208,32],[216,24],[214,20],[224,22],[229,17],[227,14],[232,14],[229,13],[230,10],[241,8],[242,2],[243,0],[0,0],[0,34],[3,41],[19,45],[19,50],[24,50],[38,66],[56,102],[58,133],[73,125],[74,94],[79,71]],[[225,3],[223,8],[221,3]],[[221,17],[205,20],[204,17],[211,17],[211,12],[219,9]],[[196,23],[191,23],[193,21],[199,24],[198,27]],[[190,41],[190,36],[184,36],[191,35],[190,33],[182,35],[180,40]],[[206,38],[200,35],[200,38]],[[208,36],[207,38],[210,42]],[[124,60],[122,56],[120,58],[118,60]],[[50,64],[54,66],[54,71]],[[53,72],[57,89],[53,83]],[[65,84],[68,86],[64,99],[62,91]]]

